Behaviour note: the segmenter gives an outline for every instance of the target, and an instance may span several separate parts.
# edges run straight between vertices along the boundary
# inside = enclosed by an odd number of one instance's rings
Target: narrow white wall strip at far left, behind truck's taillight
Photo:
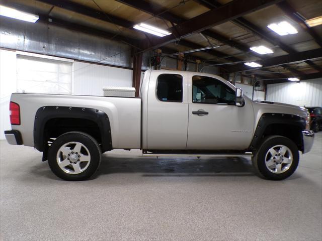
[[[16,52],[0,49],[0,140],[6,139],[4,131],[11,130],[9,102],[17,91],[16,63]]]

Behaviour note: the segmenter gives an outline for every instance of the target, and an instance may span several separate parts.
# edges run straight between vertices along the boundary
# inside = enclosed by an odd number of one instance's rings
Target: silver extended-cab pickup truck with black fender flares
[[[225,79],[199,72],[147,70],[139,98],[14,93],[10,110],[7,141],[43,152],[65,180],[89,178],[112,149],[249,156],[261,177],[281,180],[314,139],[305,108],[252,101]]]

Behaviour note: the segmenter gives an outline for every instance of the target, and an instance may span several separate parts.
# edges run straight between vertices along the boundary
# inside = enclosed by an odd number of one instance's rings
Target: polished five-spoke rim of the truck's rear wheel
[[[80,142],[68,142],[57,152],[58,167],[68,174],[84,172],[90,165],[91,154],[87,147]]]

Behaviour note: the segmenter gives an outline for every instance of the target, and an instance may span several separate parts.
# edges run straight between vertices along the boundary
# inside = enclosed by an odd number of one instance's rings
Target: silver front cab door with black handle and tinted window
[[[249,147],[254,111],[249,99],[235,105],[235,90],[224,79],[189,73],[189,150],[243,150]]]

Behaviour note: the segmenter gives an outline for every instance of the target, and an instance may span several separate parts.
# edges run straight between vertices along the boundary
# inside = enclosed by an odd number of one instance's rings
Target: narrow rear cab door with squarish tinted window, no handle
[[[188,74],[180,71],[151,71],[147,97],[147,149],[186,149],[187,78]]]

